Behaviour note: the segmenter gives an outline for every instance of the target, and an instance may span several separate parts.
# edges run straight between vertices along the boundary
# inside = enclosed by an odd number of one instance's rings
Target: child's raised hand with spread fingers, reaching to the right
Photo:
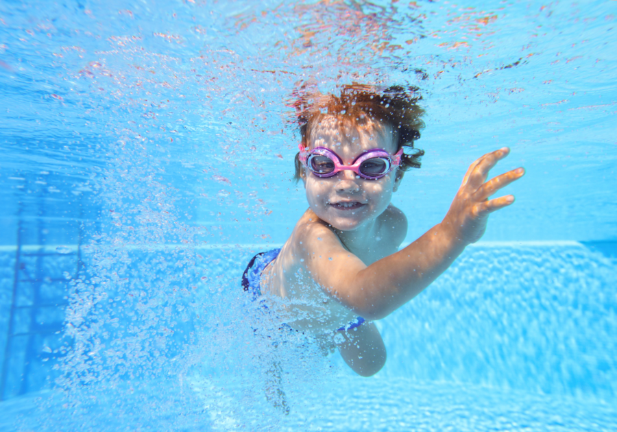
[[[452,230],[455,239],[463,241],[465,245],[475,243],[482,237],[490,213],[514,202],[513,195],[505,195],[493,200],[489,200],[488,197],[521,178],[525,173],[524,169],[513,169],[485,182],[489,170],[509,152],[508,147],[503,147],[485,154],[472,163],[465,173],[463,184],[452,201],[448,214],[441,222],[444,228]]]

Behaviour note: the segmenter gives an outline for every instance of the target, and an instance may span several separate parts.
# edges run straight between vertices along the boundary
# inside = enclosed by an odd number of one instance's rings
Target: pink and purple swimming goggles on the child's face
[[[338,154],[326,147],[315,147],[310,152],[300,144],[300,162],[315,176],[328,178],[336,176],[339,171],[354,171],[361,178],[377,180],[400,165],[402,148],[391,155],[384,149],[370,149],[361,153],[352,163],[344,165]]]

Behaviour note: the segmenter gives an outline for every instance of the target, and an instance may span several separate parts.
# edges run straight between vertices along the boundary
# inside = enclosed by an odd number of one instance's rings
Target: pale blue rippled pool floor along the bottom
[[[233,380],[230,381],[232,383]],[[186,384],[186,383],[185,383]],[[288,415],[250,413],[231,387],[195,381],[165,393],[160,383],[62,407],[45,392],[1,403],[2,431],[615,431],[615,400],[562,397],[454,383],[339,376],[328,392],[289,400]],[[328,383],[328,387],[332,383]],[[167,383],[169,386],[169,382]],[[233,385],[233,384],[230,384]],[[208,388],[209,386],[209,388]],[[143,392],[152,391],[144,394]],[[184,393],[184,396],[180,396]],[[209,394],[210,396],[204,396]],[[119,395],[121,395],[119,397]],[[195,397],[196,396],[196,397]],[[254,397],[259,397],[253,394]],[[119,397],[119,398],[118,398]],[[68,415],[67,415],[68,414]]]

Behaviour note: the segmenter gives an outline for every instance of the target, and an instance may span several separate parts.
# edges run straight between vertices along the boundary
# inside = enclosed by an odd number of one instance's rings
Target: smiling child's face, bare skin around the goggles
[[[309,147],[326,147],[351,165],[362,152],[385,149],[396,153],[392,129],[377,121],[365,125],[340,127],[335,117],[326,117],[315,125],[309,138]],[[378,180],[366,180],[354,171],[339,171],[330,178],[319,178],[304,169],[306,199],[315,214],[343,231],[367,227],[389,206],[396,191],[396,169]]]

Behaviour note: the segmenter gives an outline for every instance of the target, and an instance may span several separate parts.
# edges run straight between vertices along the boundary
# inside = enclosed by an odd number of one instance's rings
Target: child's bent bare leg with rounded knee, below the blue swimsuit
[[[349,331],[337,333],[345,339],[337,343],[341,357],[356,374],[372,376],[383,368],[386,361],[385,345],[374,323],[365,322]]]

